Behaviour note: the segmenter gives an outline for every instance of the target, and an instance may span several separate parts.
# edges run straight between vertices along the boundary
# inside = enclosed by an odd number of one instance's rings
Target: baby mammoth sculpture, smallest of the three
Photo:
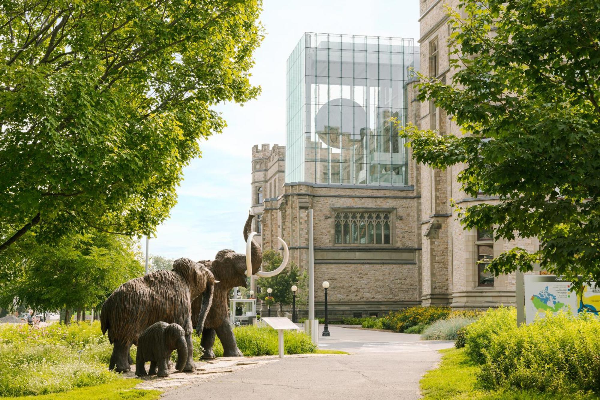
[[[137,339],[136,375],[146,375],[145,363],[149,361],[148,375],[168,377],[169,359],[173,350],[177,350],[175,369],[182,372],[187,362],[188,351],[184,329],[178,324],[167,324],[163,321],[152,324]]]

